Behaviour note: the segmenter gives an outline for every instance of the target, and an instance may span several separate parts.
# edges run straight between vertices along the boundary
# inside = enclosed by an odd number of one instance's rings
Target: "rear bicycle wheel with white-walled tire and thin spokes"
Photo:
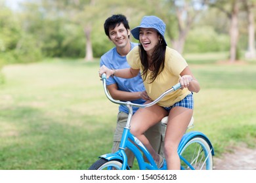
[[[180,153],[181,169],[185,170],[212,170],[213,169],[213,155],[211,153],[211,146],[205,137],[196,135],[189,139]],[[192,166],[182,160],[186,159]]]

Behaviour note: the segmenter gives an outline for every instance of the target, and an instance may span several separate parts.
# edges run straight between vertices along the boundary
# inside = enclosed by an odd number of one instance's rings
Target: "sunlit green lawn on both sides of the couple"
[[[240,143],[255,148],[256,65],[214,59],[188,59],[201,84],[194,130],[209,137],[216,156]],[[54,59],[4,67],[0,169],[88,169],[110,152],[117,105],[104,95],[98,65]]]

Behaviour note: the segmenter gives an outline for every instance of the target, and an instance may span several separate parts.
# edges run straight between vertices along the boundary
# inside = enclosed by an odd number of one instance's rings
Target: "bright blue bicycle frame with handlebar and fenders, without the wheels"
[[[173,92],[173,91],[181,88],[181,84],[180,83],[176,84],[175,86],[173,86],[172,88],[170,88],[169,90],[164,92],[162,95],[160,95],[160,97],[158,97],[158,99],[156,99],[155,101],[152,101],[151,103],[148,103],[148,104],[140,105],[140,104],[131,103],[130,101],[123,102],[123,101],[114,100],[110,96],[110,94],[108,93],[108,90],[106,88],[106,74],[102,75],[102,82],[103,82],[103,86],[104,86],[104,92],[105,92],[106,96],[108,97],[108,99],[110,101],[112,101],[112,103],[116,103],[119,105],[126,105],[129,108],[129,114],[128,114],[128,118],[127,118],[127,124],[125,125],[125,127],[123,129],[123,135],[122,135],[121,142],[119,145],[119,150],[112,154],[104,154],[104,155],[100,156],[99,158],[104,158],[107,160],[119,159],[119,160],[123,161],[121,169],[122,170],[129,169],[129,166],[127,163],[127,155],[125,154],[125,148],[129,148],[129,150],[131,150],[131,152],[133,152],[133,154],[135,154],[135,157],[137,158],[137,161],[139,164],[139,169],[157,170],[158,167],[157,167],[154,159],[152,158],[150,152],[148,152],[146,147],[142,144],[142,142],[139,141],[139,139],[137,139],[134,135],[132,135],[130,133],[131,117],[133,115],[132,107],[150,107],[150,106],[158,103],[158,101],[160,101],[160,99],[162,97],[167,95],[167,93]],[[181,142],[179,144],[178,153],[179,153],[180,159],[182,161],[184,161],[186,163],[186,165],[188,167],[190,167],[190,169],[194,169],[194,167],[192,165],[190,165],[190,163],[188,161],[186,161],[186,159],[184,159],[181,156],[181,151],[182,151],[182,148],[186,145],[186,142],[188,141],[188,139],[191,139],[192,137],[198,137],[198,136],[203,137],[209,143],[209,146],[211,148],[211,154],[214,155],[213,146],[211,145],[211,142],[209,141],[209,139],[203,133],[201,133],[199,131],[191,131],[189,133],[184,134],[181,139]],[[143,158],[141,152],[144,154],[144,156],[146,156],[146,158],[148,159],[148,162],[144,161],[144,158]],[[164,163],[164,165],[161,169],[167,169],[166,162]],[[181,167],[181,169],[184,169],[184,167]]]

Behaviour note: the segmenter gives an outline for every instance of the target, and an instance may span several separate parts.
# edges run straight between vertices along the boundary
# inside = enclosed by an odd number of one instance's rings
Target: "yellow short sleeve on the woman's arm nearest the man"
[[[140,62],[140,56],[139,56],[139,46],[135,46],[129,54],[126,56],[127,62],[133,69],[140,69],[141,62]]]

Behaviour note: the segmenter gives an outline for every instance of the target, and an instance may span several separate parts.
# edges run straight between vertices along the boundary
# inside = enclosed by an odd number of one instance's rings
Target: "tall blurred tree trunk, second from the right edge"
[[[233,1],[232,3],[232,12],[230,15],[230,62],[234,63],[236,61],[237,56],[237,48],[238,48],[238,3],[237,1]]]

